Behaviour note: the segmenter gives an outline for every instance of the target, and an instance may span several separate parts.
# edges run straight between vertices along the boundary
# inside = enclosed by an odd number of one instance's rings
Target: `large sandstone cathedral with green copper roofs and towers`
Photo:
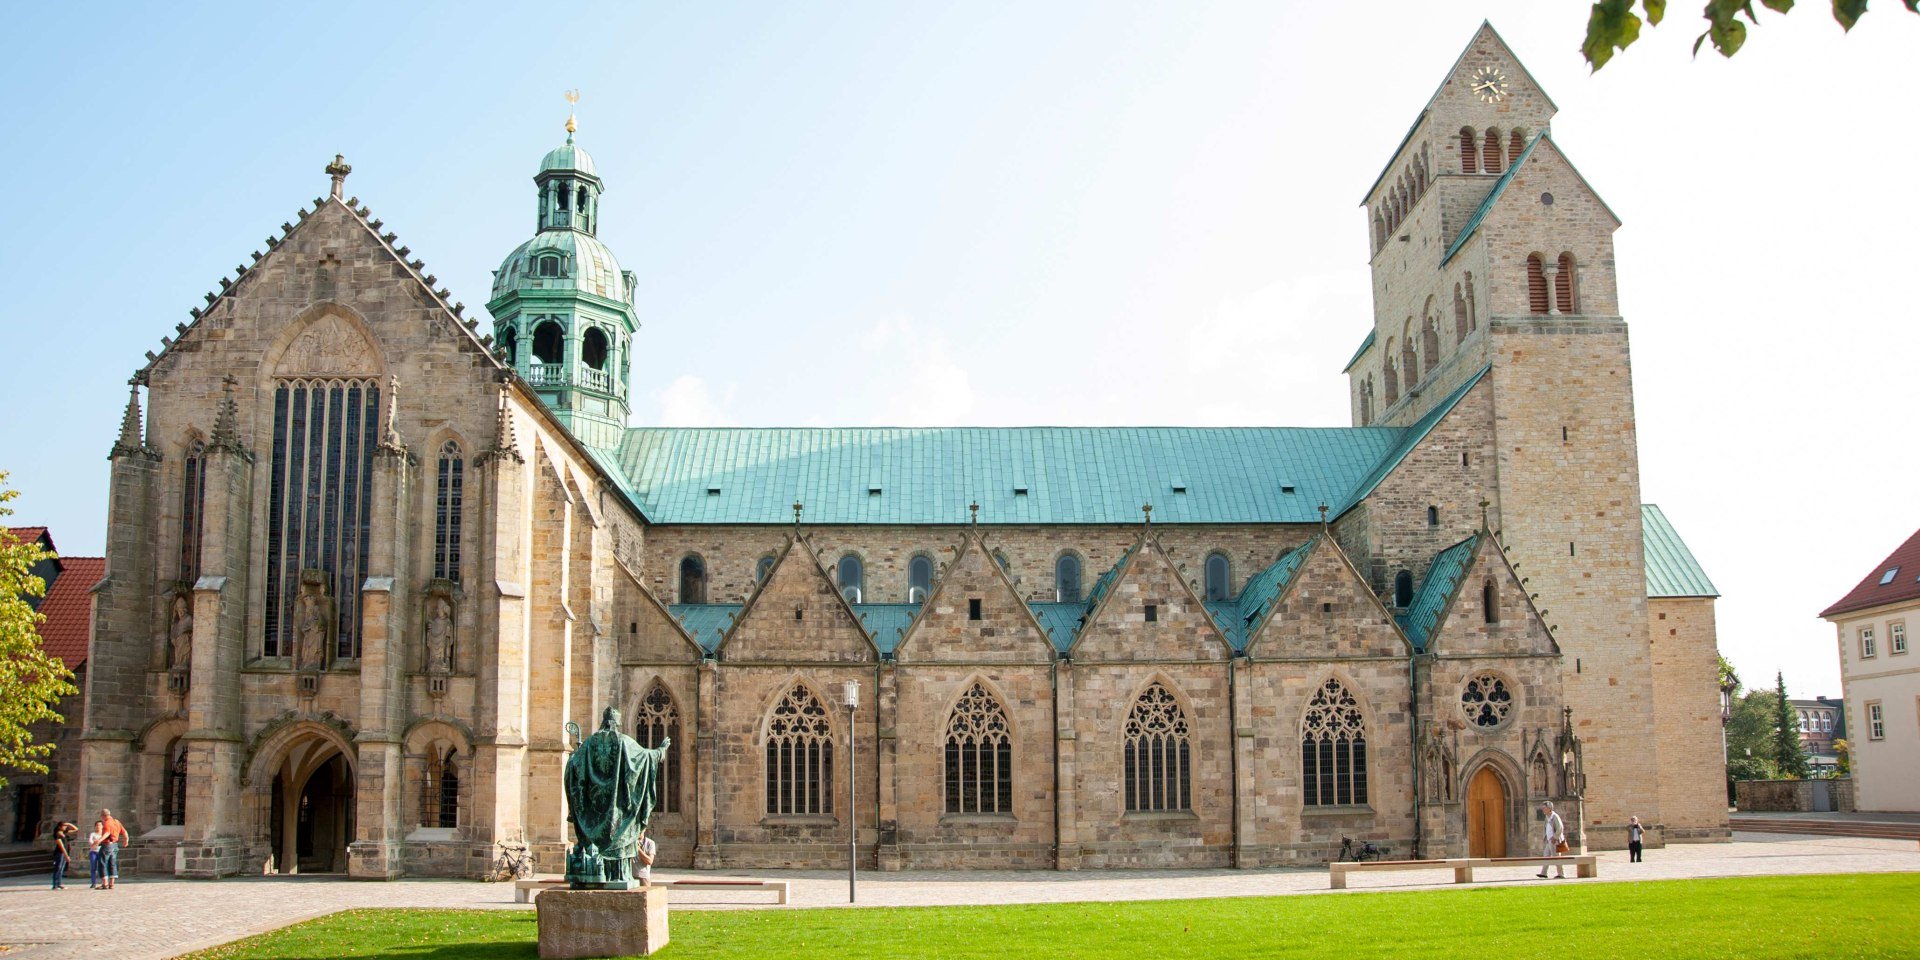
[[[630,426],[572,121],[486,317],[334,157],[132,376],[61,816],[146,874],[559,872],[614,707],[664,866],[1726,839],[1715,589],[1553,113],[1482,25],[1365,194],[1338,428]]]

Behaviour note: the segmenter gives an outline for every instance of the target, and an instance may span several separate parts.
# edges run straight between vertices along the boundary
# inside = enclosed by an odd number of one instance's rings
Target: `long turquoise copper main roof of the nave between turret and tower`
[[[1392,426],[630,428],[657,524],[1306,524],[1404,445]]]

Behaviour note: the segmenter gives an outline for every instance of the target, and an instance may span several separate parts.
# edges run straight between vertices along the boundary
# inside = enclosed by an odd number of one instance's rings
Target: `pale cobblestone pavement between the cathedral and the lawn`
[[[1853,837],[1736,833],[1734,843],[1647,851],[1644,864],[1626,852],[1599,854],[1599,879],[1740,877],[1772,874],[1920,872],[1920,845]],[[662,870],[662,877],[693,876]],[[749,876],[722,872],[707,876]],[[755,870],[787,879],[785,908],[847,906],[847,874],[826,870]],[[1354,874],[1356,891],[1446,889],[1450,874]],[[1476,870],[1484,883],[1538,883],[1532,868]],[[1549,881],[1551,883],[1551,881]],[[860,874],[858,906],[935,906],[1069,900],[1158,900],[1190,897],[1265,897],[1329,893],[1327,870],[1140,870],[1140,872],[908,872]],[[764,893],[674,893],[676,908],[774,908]],[[84,879],[65,891],[46,879],[0,881],[0,956],[6,960],[163,960],[250,933],[355,906],[451,906],[528,910],[513,904],[505,883],[401,879],[392,883],[340,877],[248,877],[225,881],[123,879],[111,893],[88,891]],[[8,950],[12,947],[12,950]]]

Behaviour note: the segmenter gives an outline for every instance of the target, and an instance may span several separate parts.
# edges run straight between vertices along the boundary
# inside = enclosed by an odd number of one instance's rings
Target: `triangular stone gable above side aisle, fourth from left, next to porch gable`
[[[1248,657],[1336,660],[1409,653],[1394,618],[1332,536],[1315,536],[1283,563],[1292,570],[1248,634]]]

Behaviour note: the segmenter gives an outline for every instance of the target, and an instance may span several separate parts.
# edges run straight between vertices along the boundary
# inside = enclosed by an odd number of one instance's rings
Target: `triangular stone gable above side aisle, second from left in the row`
[[[985,540],[970,530],[895,655],[908,662],[1033,662],[1050,660],[1054,647]]]

